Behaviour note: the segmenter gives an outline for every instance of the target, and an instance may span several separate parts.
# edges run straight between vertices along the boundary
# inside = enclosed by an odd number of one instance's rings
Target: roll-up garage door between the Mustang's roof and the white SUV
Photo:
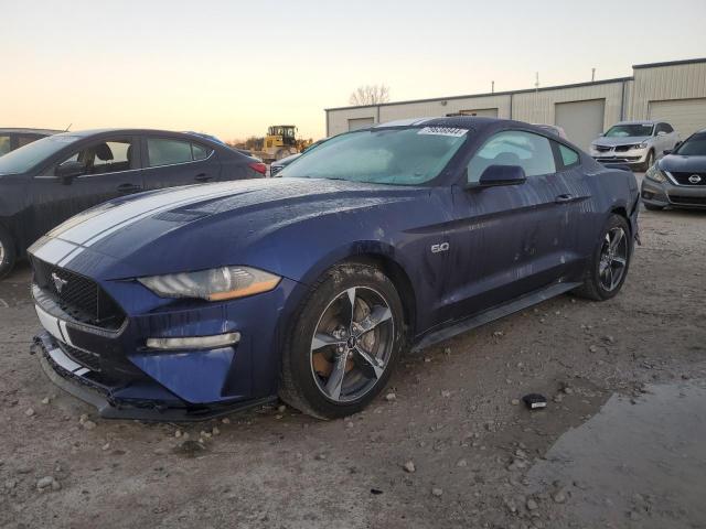
[[[554,107],[554,122],[564,129],[570,142],[588,150],[603,131],[606,99],[588,101],[557,102]]]

